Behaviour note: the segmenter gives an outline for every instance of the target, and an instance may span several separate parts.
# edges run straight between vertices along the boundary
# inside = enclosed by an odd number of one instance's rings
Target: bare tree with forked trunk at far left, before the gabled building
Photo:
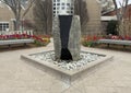
[[[29,8],[32,7],[34,0],[28,0],[28,5],[24,10],[23,14],[21,13],[22,5],[23,5],[23,2],[26,0],[0,0],[0,1],[5,3],[12,10],[14,18],[15,18],[14,30],[15,31],[19,30],[20,25],[21,25],[21,18],[23,19],[25,16],[25,14],[28,12]]]

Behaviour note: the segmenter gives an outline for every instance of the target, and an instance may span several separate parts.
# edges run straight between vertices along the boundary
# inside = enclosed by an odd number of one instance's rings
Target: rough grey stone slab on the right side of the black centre
[[[79,15],[73,15],[72,18],[68,48],[72,55],[73,60],[79,60],[81,51],[81,24]]]

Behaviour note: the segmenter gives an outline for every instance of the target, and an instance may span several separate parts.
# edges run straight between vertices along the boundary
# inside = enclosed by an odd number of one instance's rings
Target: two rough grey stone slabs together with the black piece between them
[[[81,25],[79,15],[59,15],[52,21],[56,59],[79,60]]]

